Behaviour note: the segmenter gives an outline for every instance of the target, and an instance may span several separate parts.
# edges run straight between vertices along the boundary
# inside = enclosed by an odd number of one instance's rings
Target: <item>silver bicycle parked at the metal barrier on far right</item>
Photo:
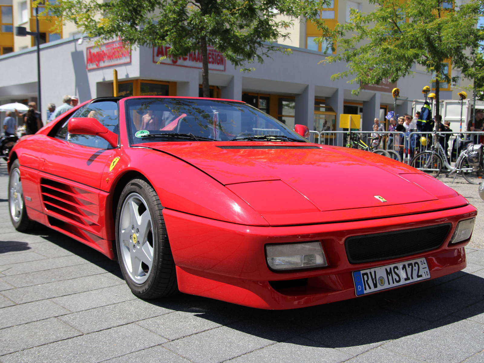
[[[416,154],[410,161],[410,166],[413,166],[428,175],[437,178],[443,168],[448,170],[447,177],[454,174],[454,180],[457,175],[462,175],[470,184],[479,184],[482,181],[483,162],[482,162],[482,145],[472,144],[472,140],[464,140],[459,138],[459,142],[464,146],[460,152],[459,157],[455,162],[455,166],[451,166],[447,155],[439,143],[437,132],[432,133],[434,142],[430,150],[422,151]],[[475,147],[475,148],[474,148]],[[476,151],[474,151],[476,149]],[[478,150],[480,149],[480,150]],[[474,155],[479,153],[478,155]],[[453,181],[454,182],[454,181]]]

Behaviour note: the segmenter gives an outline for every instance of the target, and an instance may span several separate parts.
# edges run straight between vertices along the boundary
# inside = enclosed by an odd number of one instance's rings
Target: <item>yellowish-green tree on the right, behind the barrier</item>
[[[449,83],[448,61],[465,68],[472,63],[472,50],[483,36],[477,29],[482,15],[481,1],[454,7],[452,0],[369,0],[375,10],[368,14],[351,10],[351,22],[338,24],[335,30],[324,29],[319,39],[332,40],[338,54],[325,62],[348,62],[348,70],[332,79],[353,76],[358,94],[366,85],[390,78],[412,75],[414,64],[433,74],[436,104],[439,105],[440,82]],[[321,28],[322,24],[321,24]],[[331,44],[331,42],[329,42]],[[334,50],[334,45],[333,45]]]

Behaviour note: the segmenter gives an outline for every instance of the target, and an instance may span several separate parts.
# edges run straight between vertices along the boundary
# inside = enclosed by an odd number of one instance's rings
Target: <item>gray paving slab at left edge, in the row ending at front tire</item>
[[[0,329],[69,313],[69,310],[48,300],[4,307],[0,309]]]

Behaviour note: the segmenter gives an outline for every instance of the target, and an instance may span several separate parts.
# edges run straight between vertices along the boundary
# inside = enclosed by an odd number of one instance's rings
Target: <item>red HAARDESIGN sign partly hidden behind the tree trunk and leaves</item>
[[[173,58],[168,54],[169,45],[153,47],[153,63],[171,64],[179,67],[202,68],[202,53],[200,51],[191,52],[186,57]],[[222,53],[213,48],[208,47],[209,69],[212,71],[225,72],[226,59]],[[160,60],[160,57],[166,57]]]

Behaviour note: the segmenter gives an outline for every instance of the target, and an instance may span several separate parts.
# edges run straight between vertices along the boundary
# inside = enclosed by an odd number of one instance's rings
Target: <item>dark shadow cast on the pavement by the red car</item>
[[[122,278],[116,261],[81,242],[47,227],[32,234]],[[30,248],[25,243],[15,246]],[[467,318],[484,322],[484,278],[455,272],[374,295],[292,310],[262,310],[183,293],[146,302],[276,342],[328,348],[378,346]]]

